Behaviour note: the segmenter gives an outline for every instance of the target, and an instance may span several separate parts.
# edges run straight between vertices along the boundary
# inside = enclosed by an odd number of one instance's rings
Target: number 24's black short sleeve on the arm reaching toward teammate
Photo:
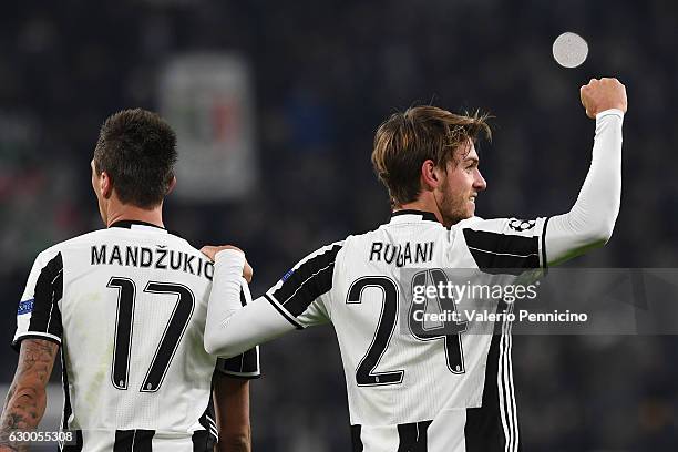
[[[266,292],[266,299],[296,328],[330,321],[328,304],[342,245],[335,243],[308,255]]]

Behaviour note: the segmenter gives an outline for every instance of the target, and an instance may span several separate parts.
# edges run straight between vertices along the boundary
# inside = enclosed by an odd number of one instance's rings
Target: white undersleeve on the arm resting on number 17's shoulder
[[[264,297],[242,306],[240,285],[244,282],[240,275],[245,259],[240,256],[232,250],[220,251],[216,256],[207,306],[205,350],[224,358],[295,329]]]

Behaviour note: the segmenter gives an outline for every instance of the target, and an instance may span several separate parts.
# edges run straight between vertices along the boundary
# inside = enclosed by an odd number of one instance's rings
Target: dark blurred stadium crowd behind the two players
[[[590,47],[575,70],[551,56],[554,38],[568,30]],[[594,132],[578,88],[603,75],[620,79],[629,94],[622,213],[608,246],[571,265],[676,267],[676,42],[678,7],[661,0],[4,4],[3,340],[11,340],[35,254],[100,227],[89,162],[101,122],[124,107],[157,110],[164,63],[191,51],[228,51],[248,62],[260,178],[247,196],[224,203],[171,196],[166,224],[196,246],[244,247],[255,266],[254,295],[316,247],[388,218],[371,141],[387,115],[412,103],[496,116],[493,142],[481,145],[489,189],[479,215],[565,212],[586,174]],[[265,377],[253,383],[255,450],[349,450],[330,331],[263,349]],[[524,449],[675,450],[677,345],[675,337],[516,337]],[[9,383],[16,356],[0,350]]]

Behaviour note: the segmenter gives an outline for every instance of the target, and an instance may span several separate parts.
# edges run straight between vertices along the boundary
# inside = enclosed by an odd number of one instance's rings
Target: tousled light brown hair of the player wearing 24
[[[479,135],[492,137],[489,115],[475,112],[459,115],[431,105],[413,106],[394,113],[374,134],[372,165],[386,185],[393,206],[417,201],[421,193],[421,165],[432,160],[444,167],[454,151]]]

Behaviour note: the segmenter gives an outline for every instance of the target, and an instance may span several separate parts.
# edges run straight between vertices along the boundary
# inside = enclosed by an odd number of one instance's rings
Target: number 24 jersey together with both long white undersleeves
[[[572,210],[551,218],[470,218],[443,227],[425,212],[323,247],[265,296],[238,302],[245,258],[216,256],[205,347],[229,356],[292,329],[331,323],[349,399],[353,452],[520,450],[511,325],[452,340],[401,325],[407,269],[516,275],[609,239],[619,209],[623,113],[598,114],[592,165]],[[463,282],[463,281],[462,281]],[[490,310],[511,309],[503,301]],[[472,330],[473,325],[468,326]]]

